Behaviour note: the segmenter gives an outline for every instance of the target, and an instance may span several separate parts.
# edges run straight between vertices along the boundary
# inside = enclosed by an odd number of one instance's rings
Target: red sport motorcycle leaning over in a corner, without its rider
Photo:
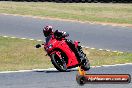
[[[63,72],[67,71],[67,69],[81,66],[86,71],[90,69],[90,64],[79,43],[74,41],[75,47],[83,56],[83,61],[75,56],[75,53],[67,45],[66,38],[57,39],[54,35],[51,35],[48,43],[42,45],[44,45],[47,55],[51,58],[51,62],[57,70]],[[36,48],[39,47],[41,47],[40,44],[36,45]]]

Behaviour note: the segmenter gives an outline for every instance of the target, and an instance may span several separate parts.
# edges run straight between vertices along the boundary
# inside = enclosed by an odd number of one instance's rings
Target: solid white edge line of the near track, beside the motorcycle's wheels
[[[115,65],[102,65],[102,66],[91,66],[91,68],[100,68],[100,67],[111,67],[111,66],[124,66],[124,65],[132,65],[132,63],[125,64],[115,64]],[[78,67],[69,69],[69,71],[77,71]],[[19,71],[2,71],[0,73],[21,73],[21,72],[44,72],[44,71],[57,71],[56,68],[48,68],[48,69],[33,69],[33,70],[19,70]]]

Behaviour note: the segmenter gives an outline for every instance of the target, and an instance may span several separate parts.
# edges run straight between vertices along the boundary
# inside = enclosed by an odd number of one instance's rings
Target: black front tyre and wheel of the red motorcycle
[[[67,71],[66,62],[62,58],[59,58],[57,54],[51,54],[51,62],[58,71]]]

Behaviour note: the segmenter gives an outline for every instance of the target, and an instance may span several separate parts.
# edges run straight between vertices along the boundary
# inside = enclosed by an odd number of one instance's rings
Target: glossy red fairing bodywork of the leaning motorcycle
[[[75,41],[74,43],[77,47],[78,42]],[[44,45],[44,48],[47,51],[49,56],[53,53],[56,53],[60,58],[62,58],[60,55],[61,51],[65,53],[68,59],[68,62],[66,64],[67,68],[74,67],[79,64],[74,52],[69,48],[69,46],[66,43],[66,40],[63,38],[61,40],[57,40],[56,38],[54,38],[54,35],[53,35],[52,38],[49,40],[48,44]]]

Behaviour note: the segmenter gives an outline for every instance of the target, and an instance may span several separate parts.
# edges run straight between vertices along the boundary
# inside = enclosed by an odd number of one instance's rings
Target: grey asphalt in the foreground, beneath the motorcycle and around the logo
[[[89,74],[130,74],[132,64],[122,66],[91,68]],[[85,84],[80,86],[76,82],[77,71],[58,72],[21,72],[1,73],[0,88],[132,88],[129,84]]]

